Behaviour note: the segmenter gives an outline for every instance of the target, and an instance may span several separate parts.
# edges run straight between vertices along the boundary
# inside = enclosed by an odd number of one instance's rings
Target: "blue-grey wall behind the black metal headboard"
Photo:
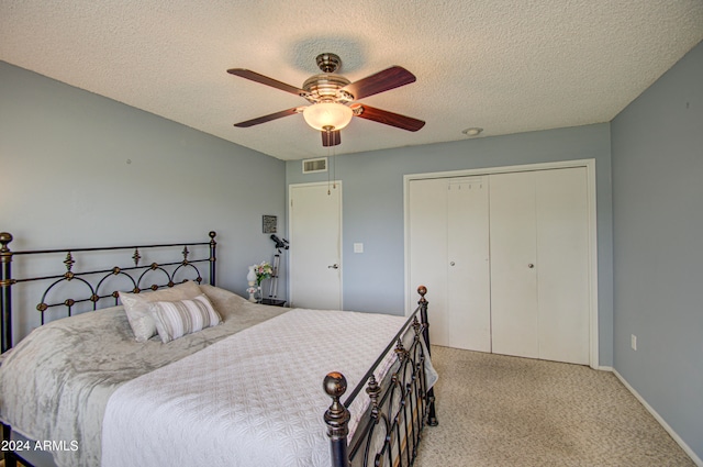
[[[286,226],[283,162],[4,62],[0,173],[12,249],[208,241],[214,230],[219,282],[243,294],[246,266],[274,253],[261,215]],[[37,321],[15,316],[15,338]]]

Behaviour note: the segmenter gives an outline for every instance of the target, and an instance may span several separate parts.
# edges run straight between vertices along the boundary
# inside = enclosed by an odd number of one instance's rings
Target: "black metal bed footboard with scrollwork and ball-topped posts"
[[[424,425],[437,424],[434,390],[427,387],[425,373],[429,358],[427,289],[421,286],[417,292],[421,296],[417,309],[379,357],[380,360],[395,347],[397,362],[389,375],[377,380],[377,360],[344,403],[342,397],[347,390],[344,375],[333,371],[324,379],[324,390],[332,398],[324,414],[332,467],[410,466]],[[406,333],[412,337],[410,344],[403,338]],[[348,407],[364,386],[369,408],[349,440]]]

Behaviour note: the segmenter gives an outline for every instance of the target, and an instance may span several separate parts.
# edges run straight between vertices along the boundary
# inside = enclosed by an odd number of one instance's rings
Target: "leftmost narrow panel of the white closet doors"
[[[447,181],[411,180],[409,186],[410,302],[427,287],[429,342],[449,345],[447,316]],[[412,307],[414,309],[414,307]]]

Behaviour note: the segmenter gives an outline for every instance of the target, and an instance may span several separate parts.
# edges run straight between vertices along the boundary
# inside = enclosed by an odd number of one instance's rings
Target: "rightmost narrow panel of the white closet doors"
[[[539,358],[589,364],[585,167],[535,173]]]

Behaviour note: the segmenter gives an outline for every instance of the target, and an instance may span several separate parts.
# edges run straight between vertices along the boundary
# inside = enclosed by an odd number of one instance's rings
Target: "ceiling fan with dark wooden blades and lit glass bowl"
[[[414,82],[415,75],[405,68],[392,66],[352,82],[344,76],[335,74],[342,66],[342,59],[337,55],[331,53],[320,54],[316,57],[316,63],[322,74],[308,78],[302,88],[287,85],[245,68],[228,69],[227,73],[234,76],[300,96],[311,103],[311,105],[294,107],[235,123],[234,126],[248,127],[302,113],[310,126],[322,132],[323,146],[336,146],[342,143],[339,130],[345,127],[354,116],[411,132],[416,132],[424,126],[425,122],[422,120],[356,102],[359,99]]]

